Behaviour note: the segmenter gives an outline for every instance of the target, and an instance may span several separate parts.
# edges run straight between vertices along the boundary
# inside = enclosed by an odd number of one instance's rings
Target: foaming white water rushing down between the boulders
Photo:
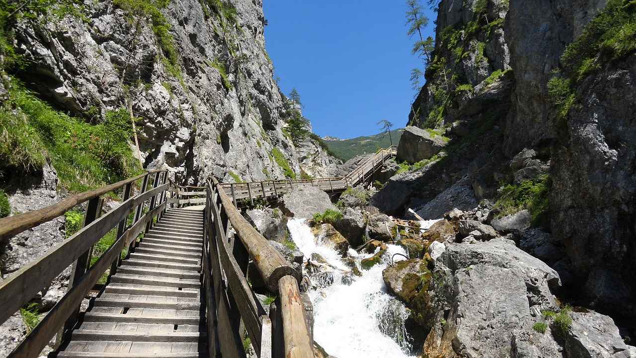
[[[348,273],[351,269],[336,251],[320,238],[315,240],[305,219],[289,219],[287,227],[292,240],[305,255],[305,261],[316,253],[333,266],[326,268],[327,274],[310,275],[312,284],[318,286],[308,290],[314,304],[314,340],[328,354],[339,358],[410,357],[404,329],[408,313],[402,303],[387,293],[382,280],[382,270],[388,262],[361,270],[361,277],[351,275]],[[395,253],[405,253],[399,246],[387,247],[386,260]],[[349,250],[349,257],[356,262],[370,256]],[[329,279],[324,280],[324,275]]]

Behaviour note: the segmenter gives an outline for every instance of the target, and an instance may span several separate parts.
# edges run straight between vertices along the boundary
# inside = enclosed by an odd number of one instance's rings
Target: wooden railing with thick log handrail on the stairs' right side
[[[237,233],[232,235],[231,229]],[[266,238],[245,221],[225,194],[223,184],[207,183],[203,272],[210,356],[245,357],[242,327],[259,358],[314,357],[305,308],[300,299],[300,273]],[[235,236],[238,236],[238,240]],[[252,259],[270,293],[278,294],[270,316],[247,282]],[[223,327],[223,329],[216,329]],[[280,343],[279,343],[280,342]]]

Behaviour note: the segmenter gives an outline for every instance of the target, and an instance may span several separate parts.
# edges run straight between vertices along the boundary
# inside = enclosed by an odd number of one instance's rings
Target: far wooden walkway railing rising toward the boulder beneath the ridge
[[[249,203],[254,205],[256,198],[272,198],[288,193],[295,186],[309,184],[328,193],[338,193],[347,189],[348,186],[356,186],[366,181],[373,175],[382,163],[388,158],[396,155],[396,146],[378,150],[370,158],[359,164],[356,169],[343,177],[324,177],[313,179],[284,179],[266,180],[256,182],[226,182],[221,184],[226,195],[232,197],[234,206],[242,205],[242,200],[249,199]]]

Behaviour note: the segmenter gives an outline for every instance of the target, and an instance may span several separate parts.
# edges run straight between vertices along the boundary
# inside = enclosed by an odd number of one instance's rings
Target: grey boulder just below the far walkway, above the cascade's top
[[[327,209],[338,210],[329,195],[321,189],[309,185],[296,186],[282,196],[283,211],[289,217],[310,219],[317,212]]]

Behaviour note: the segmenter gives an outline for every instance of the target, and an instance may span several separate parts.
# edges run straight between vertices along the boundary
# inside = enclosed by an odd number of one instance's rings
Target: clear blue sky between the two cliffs
[[[315,134],[376,134],[384,119],[406,125],[415,94],[410,73],[422,60],[411,55],[405,10],[400,0],[263,1],[274,75],[286,95],[296,87]],[[425,10],[425,36],[433,36],[435,16]]]

